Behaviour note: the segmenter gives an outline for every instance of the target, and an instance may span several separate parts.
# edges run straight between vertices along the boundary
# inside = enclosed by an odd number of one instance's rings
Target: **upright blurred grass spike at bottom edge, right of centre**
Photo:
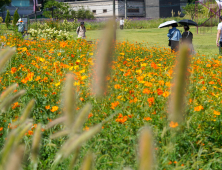
[[[153,136],[148,127],[145,127],[140,134],[139,156],[139,170],[152,170],[154,166]]]

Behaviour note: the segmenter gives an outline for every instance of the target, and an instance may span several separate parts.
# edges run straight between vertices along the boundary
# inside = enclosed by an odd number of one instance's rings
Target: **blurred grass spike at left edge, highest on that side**
[[[6,48],[0,52],[0,71],[2,71],[4,65],[12,57],[14,53],[15,53],[15,48]]]

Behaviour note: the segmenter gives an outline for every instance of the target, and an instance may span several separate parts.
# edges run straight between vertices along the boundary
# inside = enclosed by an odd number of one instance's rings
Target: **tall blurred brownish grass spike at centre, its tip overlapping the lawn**
[[[109,67],[114,52],[115,34],[115,20],[110,20],[104,30],[94,65],[93,93],[98,97],[103,96],[107,90],[107,76],[110,72]]]

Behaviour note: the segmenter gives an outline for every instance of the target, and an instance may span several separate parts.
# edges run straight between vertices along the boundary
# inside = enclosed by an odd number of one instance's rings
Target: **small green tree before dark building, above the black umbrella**
[[[191,16],[191,20],[194,19],[194,16],[196,15],[196,12],[198,12],[199,14],[203,13],[203,6],[202,5],[198,5],[197,9],[195,9],[195,4],[187,4],[185,7],[183,7],[184,10],[184,14],[185,15],[190,15]]]

